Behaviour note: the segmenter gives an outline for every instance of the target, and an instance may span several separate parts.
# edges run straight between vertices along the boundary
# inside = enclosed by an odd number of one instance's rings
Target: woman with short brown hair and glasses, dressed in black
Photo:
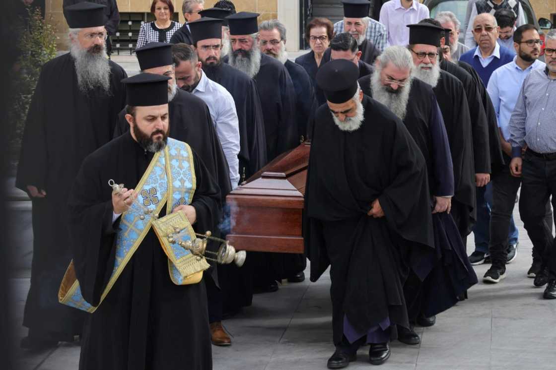
[[[315,87],[316,99],[319,106],[326,102],[326,98],[316,84],[316,72],[330,58],[324,57],[324,52],[330,46],[333,29],[334,25],[326,18],[315,18],[309,22],[305,29],[305,37],[309,42],[311,51],[295,59],[295,62],[309,74],[311,82]]]

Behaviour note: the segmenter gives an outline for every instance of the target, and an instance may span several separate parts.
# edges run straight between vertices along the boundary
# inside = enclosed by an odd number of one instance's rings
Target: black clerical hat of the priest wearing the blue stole
[[[153,73],[139,73],[122,79],[122,83],[126,84],[126,104],[132,107],[167,104],[168,79],[170,77]]]

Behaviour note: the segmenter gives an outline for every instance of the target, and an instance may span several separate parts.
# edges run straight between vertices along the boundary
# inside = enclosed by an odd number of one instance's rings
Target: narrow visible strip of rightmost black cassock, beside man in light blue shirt
[[[490,148],[490,167],[492,173],[500,171],[502,166],[505,166],[504,156],[502,154],[502,146],[500,146],[500,138],[498,136],[498,121],[496,119],[496,112],[494,111],[494,106],[490,100],[488,92],[486,92],[486,87],[484,86],[483,80],[479,77],[475,68],[471,67],[470,64],[463,61],[457,62],[458,66],[465,69],[471,77],[475,80],[476,86],[479,89],[479,96],[483,102],[483,108],[486,113],[486,121],[488,122],[488,136],[489,136],[489,148]]]

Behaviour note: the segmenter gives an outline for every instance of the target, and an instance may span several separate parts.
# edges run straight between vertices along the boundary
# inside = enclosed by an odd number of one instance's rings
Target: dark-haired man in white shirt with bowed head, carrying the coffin
[[[209,107],[230,167],[230,181],[235,188],[240,181],[237,158],[240,152],[240,130],[234,98],[222,85],[206,77],[195,48],[187,44],[176,44],[172,47],[172,56],[176,64],[177,86],[200,97]]]

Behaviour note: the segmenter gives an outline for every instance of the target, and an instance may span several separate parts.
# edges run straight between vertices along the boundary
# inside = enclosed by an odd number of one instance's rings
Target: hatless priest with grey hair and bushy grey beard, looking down
[[[410,323],[430,326],[435,315],[454,306],[458,296],[477,282],[477,277],[461,241],[458,228],[449,216],[454,193],[454,172],[450,146],[442,114],[429,84],[411,76],[413,59],[403,46],[384,50],[372,76],[359,79],[361,89],[385,104],[403,119],[427,164],[435,254],[427,261],[431,272],[423,282],[411,272],[404,284]],[[398,339],[419,344],[413,329],[398,328]]]

